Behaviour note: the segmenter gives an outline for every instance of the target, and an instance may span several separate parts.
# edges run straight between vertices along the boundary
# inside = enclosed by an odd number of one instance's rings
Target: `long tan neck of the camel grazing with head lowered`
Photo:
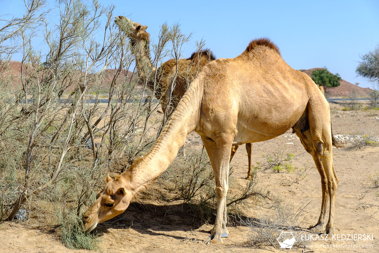
[[[191,83],[179,105],[164,125],[153,148],[128,171],[136,193],[151,184],[175,159],[187,135],[196,129],[200,120],[202,87],[199,81]]]

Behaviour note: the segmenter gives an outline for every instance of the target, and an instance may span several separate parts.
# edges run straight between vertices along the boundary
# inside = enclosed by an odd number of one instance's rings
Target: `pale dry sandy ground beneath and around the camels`
[[[379,112],[343,112],[340,105],[331,104],[332,124],[335,134],[379,136]],[[191,141],[198,136],[191,134]],[[288,144],[290,143],[290,144]],[[200,145],[200,144],[197,144]],[[308,163],[306,178],[294,183],[294,173],[258,172],[258,187],[265,187],[288,204],[300,206],[309,203],[305,210],[303,228],[314,225],[321,207],[320,177],[312,157],[305,152],[300,141],[288,132],[273,140],[254,143],[252,160],[262,161],[262,155],[286,146],[287,152],[295,155],[294,165]],[[335,226],[337,234],[372,234],[372,240],[314,242],[315,248],[292,249],[294,252],[379,252],[379,190],[372,186],[368,175],[379,172],[379,147],[357,151],[333,149],[334,165],[338,184]],[[236,166],[232,174],[235,181],[246,185],[247,155],[243,146],[236,152],[231,165]],[[141,208],[142,207],[142,208]],[[141,211],[144,210],[144,211]],[[181,212],[177,210],[181,209]],[[282,252],[274,247],[263,249],[241,246],[249,237],[246,226],[228,227],[229,237],[222,245],[205,245],[212,225],[195,226],[185,218],[180,205],[134,203],[124,214],[108,223],[99,224],[100,248],[102,252]],[[251,213],[250,217],[257,217]],[[321,247],[323,248],[319,248]],[[367,246],[371,245],[371,246]],[[279,248],[279,245],[277,245]],[[19,224],[0,225],[0,252],[89,252],[70,250],[62,245],[55,234],[46,229]],[[93,252],[93,251],[92,251]]]

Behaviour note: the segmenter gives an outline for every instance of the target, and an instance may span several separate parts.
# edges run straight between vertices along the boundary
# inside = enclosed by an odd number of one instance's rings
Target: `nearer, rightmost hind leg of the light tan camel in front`
[[[308,124],[312,135],[313,148],[323,164],[329,193],[329,220],[326,234],[334,234],[335,195],[338,178],[334,170],[332,157],[332,130],[330,125],[330,108],[324,97],[315,97],[308,102]]]

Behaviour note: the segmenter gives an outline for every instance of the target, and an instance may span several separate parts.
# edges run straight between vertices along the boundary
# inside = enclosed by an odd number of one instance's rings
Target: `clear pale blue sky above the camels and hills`
[[[372,87],[356,76],[355,69],[359,56],[379,44],[379,1],[99,2],[113,3],[115,15],[147,25],[152,39],[157,39],[164,22],[179,22],[184,33],[194,32],[184,57],[189,57],[196,49],[195,41],[201,38],[216,57],[233,58],[249,41],[266,36],[279,46],[283,59],[294,69],[326,66],[348,82]],[[0,5],[0,15],[22,14],[21,1]]]

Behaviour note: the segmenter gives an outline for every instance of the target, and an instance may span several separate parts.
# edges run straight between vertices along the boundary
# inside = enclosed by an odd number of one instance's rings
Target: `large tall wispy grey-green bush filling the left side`
[[[14,25],[5,24],[0,36],[0,219],[25,209],[30,224],[58,225],[68,247],[96,248],[79,230],[83,206],[120,157],[133,160],[149,149],[159,104],[144,96],[145,84],[137,89],[122,77],[133,56],[114,25],[113,5],[61,0],[53,22],[47,3],[25,3],[29,14],[7,21]],[[34,50],[36,33],[46,52]],[[22,55],[20,75],[8,61],[14,53]]]

